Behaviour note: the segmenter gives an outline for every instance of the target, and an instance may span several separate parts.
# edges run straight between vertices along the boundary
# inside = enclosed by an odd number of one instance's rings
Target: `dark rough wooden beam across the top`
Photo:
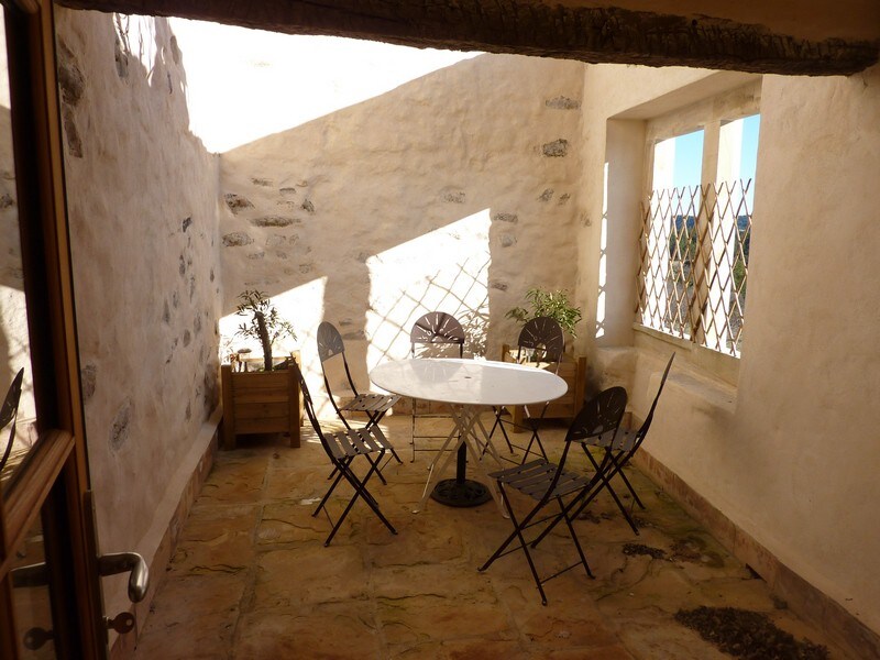
[[[761,25],[619,8],[527,0],[62,0],[75,9],[182,16],[394,44],[518,53],[590,63],[692,66],[790,75],[848,75],[878,62],[880,44],[811,41]]]

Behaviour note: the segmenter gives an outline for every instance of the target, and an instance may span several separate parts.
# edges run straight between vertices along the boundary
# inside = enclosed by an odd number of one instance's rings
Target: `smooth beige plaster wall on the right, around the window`
[[[613,81],[609,73],[591,67],[586,75],[591,134],[603,135],[606,118],[642,103],[646,91],[663,94],[661,81],[647,82],[657,74],[619,69]],[[590,105],[598,89],[623,102]],[[602,202],[604,156],[601,139],[586,145],[593,213]],[[645,446],[873,630],[880,630],[878,176],[879,67],[849,78],[765,78],[738,382],[710,377],[679,348]],[[595,231],[582,232],[586,251]],[[587,273],[581,282],[590,287],[596,277]],[[673,348],[641,334],[635,344],[631,407],[644,417]],[[609,355],[612,366],[622,360],[618,351]]]

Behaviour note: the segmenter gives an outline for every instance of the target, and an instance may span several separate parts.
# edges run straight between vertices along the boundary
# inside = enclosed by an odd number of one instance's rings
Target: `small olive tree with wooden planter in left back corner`
[[[296,339],[294,327],[282,319],[272,301],[258,290],[239,296],[237,315],[248,318],[239,326],[237,337],[256,339],[263,346],[262,371],[233,371],[231,364],[220,367],[223,388],[223,449],[235,448],[241,433],[278,433],[290,436],[290,447],[299,447],[302,424],[299,377],[289,366],[290,355],[280,365],[273,365],[272,344],[284,337]]]

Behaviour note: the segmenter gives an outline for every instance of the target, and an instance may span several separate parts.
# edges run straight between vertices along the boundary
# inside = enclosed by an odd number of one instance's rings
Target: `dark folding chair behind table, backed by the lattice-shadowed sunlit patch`
[[[459,320],[444,311],[430,311],[419,317],[409,332],[410,355],[413,358],[464,358],[464,329]],[[419,413],[418,402],[413,399],[411,441],[413,461],[417,451],[435,451],[433,449],[417,449],[416,439],[444,439],[447,435],[426,435],[418,432],[418,420],[449,418],[449,415]],[[451,419],[451,418],[450,418]]]

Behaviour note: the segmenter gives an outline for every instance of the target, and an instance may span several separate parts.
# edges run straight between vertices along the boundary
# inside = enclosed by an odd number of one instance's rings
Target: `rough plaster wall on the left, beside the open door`
[[[219,398],[217,164],[188,131],[167,21],[59,8],[56,22],[99,541],[150,561]],[[103,584],[108,614],[128,608],[124,576]]]

